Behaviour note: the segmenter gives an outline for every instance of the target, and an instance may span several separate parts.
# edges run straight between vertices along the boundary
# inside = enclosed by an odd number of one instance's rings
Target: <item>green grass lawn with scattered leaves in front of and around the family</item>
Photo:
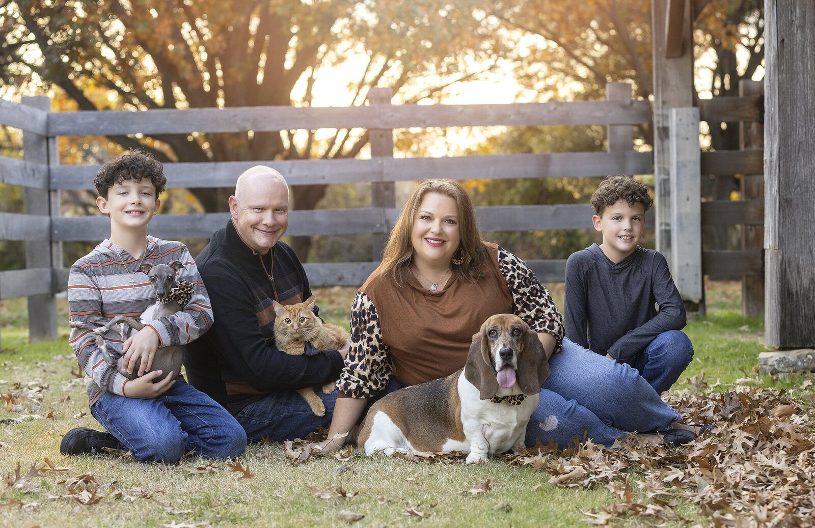
[[[809,379],[803,374],[758,376],[758,354],[768,350],[762,342],[763,323],[738,314],[732,284],[716,288],[708,291],[708,298],[720,293],[716,298],[726,301],[708,310],[705,319],[691,320],[685,329],[696,354],[679,388],[685,378],[703,373],[711,383],[720,381],[713,390],[742,378],[751,378],[747,385],[778,388],[800,386]],[[561,303],[562,293],[552,289]],[[325,288],[316,296],[325,319],[347,326],[353,288]],[[65,315],[60,321],[67,321],[63,305],[60,300],[59,310]],[[29,343],[24,306],[24,300],[0,302],[0,394],[20,400],[25,389],[33,391],[24,403],[18,401],[19,410],[0,407],[0,476],[11,476],[13,482],[18,462],[24,474],[32,464],[45,466],[46,458],[56,467],[69,469],[38,474],[31,479],[30,490],[0,483],[0,506],[7,506],[0,508],[0,526],[349,526],[337,518],[343,509],[365,516],[355,526],[587,526],[589,517],[581,512],[619,502],[604,486],[588,491],[552,486],[548,473],[511,466],[503,458],[467,467],[369,457],[354,451],[348,460],[319,458],[295,467],[283,447],[253,444],[237,460],[249,465],[253,477],[239,480],[241,473],[231,472],[224,462],[215,462],[213,472],[191,473],[209,464],[199,457],[164,466],[112,455],[60,455],[59,442],[68,429],[99,429],[99,424],[88,414],[84,388],[77,382],[80,372],[68,345],[67,328],[60,328],[58,341]],[[47,416],[52,409],[52,418],[11,421],[26,415]],[[335,473],[341,468],[345,471]],[[73,490],[93,490],[93,495],[86,496],[100,499],[98,503],[80,504],[67,496],[71,486],[66,479],[81,475],[93,476],[94,482]],[[632,479],[634,502],[650,504],[636,485],[636,470],[619,478]],[[486,493],[466,493],[488,479],[491,486]],[[337,487],[356,495],[314,496],[315,490]],[[685,499],[679,500],[675,511],[687,522],[664,521],[662,526],[710,522]],[[615,526],[654,522],[653,517],[634,516],[615,521]]]

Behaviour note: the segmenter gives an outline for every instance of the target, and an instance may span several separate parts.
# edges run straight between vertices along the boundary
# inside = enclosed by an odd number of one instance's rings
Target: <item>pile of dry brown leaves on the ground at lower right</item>
[[[687,423],[717,429],[688,447],[584,442],[566,451],[538,446],[511,462],[550,473],[554,486],[608,487],[619,502],[584,512],[598,525],[628,516],[650,516],[654,524],[684,520],[675,507],[685,498],[709,526],[815,526],[815,429],[807,409],[783,391],[735,385],[715,393],[695,382],[697,390],[667,403]],[[644,504],[633,502],[632,481],[645,491]]]

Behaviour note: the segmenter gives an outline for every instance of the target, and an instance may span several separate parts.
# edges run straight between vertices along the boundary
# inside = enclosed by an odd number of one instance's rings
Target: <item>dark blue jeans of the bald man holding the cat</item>
[[[316,393],[325,405],[325,416],[315,415],[306,399],[290,390],[267,394],[238,411],[235,418],[246,431],[249,442],[260,442],[264,437],[268,437],[269,442],[304,438],[318,425],[327,428],[334,415],[337,390],[323,394],[318,387]]]

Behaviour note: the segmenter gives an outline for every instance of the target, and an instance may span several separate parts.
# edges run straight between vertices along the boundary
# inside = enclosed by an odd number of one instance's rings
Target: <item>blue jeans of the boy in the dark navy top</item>
[[[627,362],[640,372],[657,393],[662,394],[671,388],[690,361],[694,359],[694,345],[691,345],[685,332],[668,330],[654,337],[654,341],[642,354],[637,354]]]

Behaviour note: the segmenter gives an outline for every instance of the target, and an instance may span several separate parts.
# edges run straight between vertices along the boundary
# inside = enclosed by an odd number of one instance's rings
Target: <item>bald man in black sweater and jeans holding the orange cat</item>
[[[316,391],[325,416],[315,416],[296,389],[336,380],[342,350],[293,356],[275,348],[271,301],[311,297],[306,272],[280,237],[289,226],[289,186],[275,169],[257,165],[240,174],[229,197],[227,227],[196,257],[212,302],[214,323],[187,345],[187,379],[227,408],[250,441],[303,438],[328,425],[337,391]]]

